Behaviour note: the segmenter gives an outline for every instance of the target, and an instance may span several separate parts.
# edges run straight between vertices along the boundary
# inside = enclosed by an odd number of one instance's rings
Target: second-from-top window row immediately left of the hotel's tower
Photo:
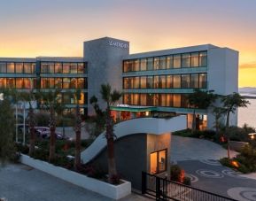
[[[41,78],[41,89],[87,89],[87,78]]]

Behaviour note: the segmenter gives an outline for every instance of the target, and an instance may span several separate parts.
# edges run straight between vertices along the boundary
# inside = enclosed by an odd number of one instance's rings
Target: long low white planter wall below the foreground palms
[[[39,159],[30,158],[27,155],[21,154],[20,162],[27,166],[32,166],[35,169],[41,170],[44,173],[53,175],[66,182],[71,182],[74,185],[80,186],[84,189],[97,192],[105,197],[112,199],[120,199],[126,197],[131,193],[131,183],[122,181],[120,185],[112,185],[107,182],[102,182],[94,178],[90,178],[83,174],[75,173],[60,166],[53,166],[50,163]]]

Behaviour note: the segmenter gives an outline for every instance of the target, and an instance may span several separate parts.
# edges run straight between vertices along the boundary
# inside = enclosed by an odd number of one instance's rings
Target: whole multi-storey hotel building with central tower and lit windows
[[[82,58],[0,58],[0,88],[20,90],[61,89],[62,103],[72,110],[72,93],[81,89],[81,111],[92,115],[89,98],[100,106],[100,86],[109,83],[123,92],[112,106],[115,118],[130,119],[158,114],[187,114],[191,127],[193,108],[187,97],[194,89],[228,95],[238,91],[238,52],[212,44],[129,54],[129,43],[100,38],[84,43]],[[210,110],[196,109],[198,128],[213,128]],[[237,113],[230,118],[237,125]]]

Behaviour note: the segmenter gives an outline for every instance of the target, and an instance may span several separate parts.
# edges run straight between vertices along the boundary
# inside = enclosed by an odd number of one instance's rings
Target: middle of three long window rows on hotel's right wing
[[[206,89],[206,73],[124,77],[123,89]]]

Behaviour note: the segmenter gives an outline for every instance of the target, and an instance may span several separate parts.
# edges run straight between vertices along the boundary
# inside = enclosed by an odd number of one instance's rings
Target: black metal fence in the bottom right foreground
[[[156,200],[237,201],[145,172],[142,173],[142,193],[151,195]]]

